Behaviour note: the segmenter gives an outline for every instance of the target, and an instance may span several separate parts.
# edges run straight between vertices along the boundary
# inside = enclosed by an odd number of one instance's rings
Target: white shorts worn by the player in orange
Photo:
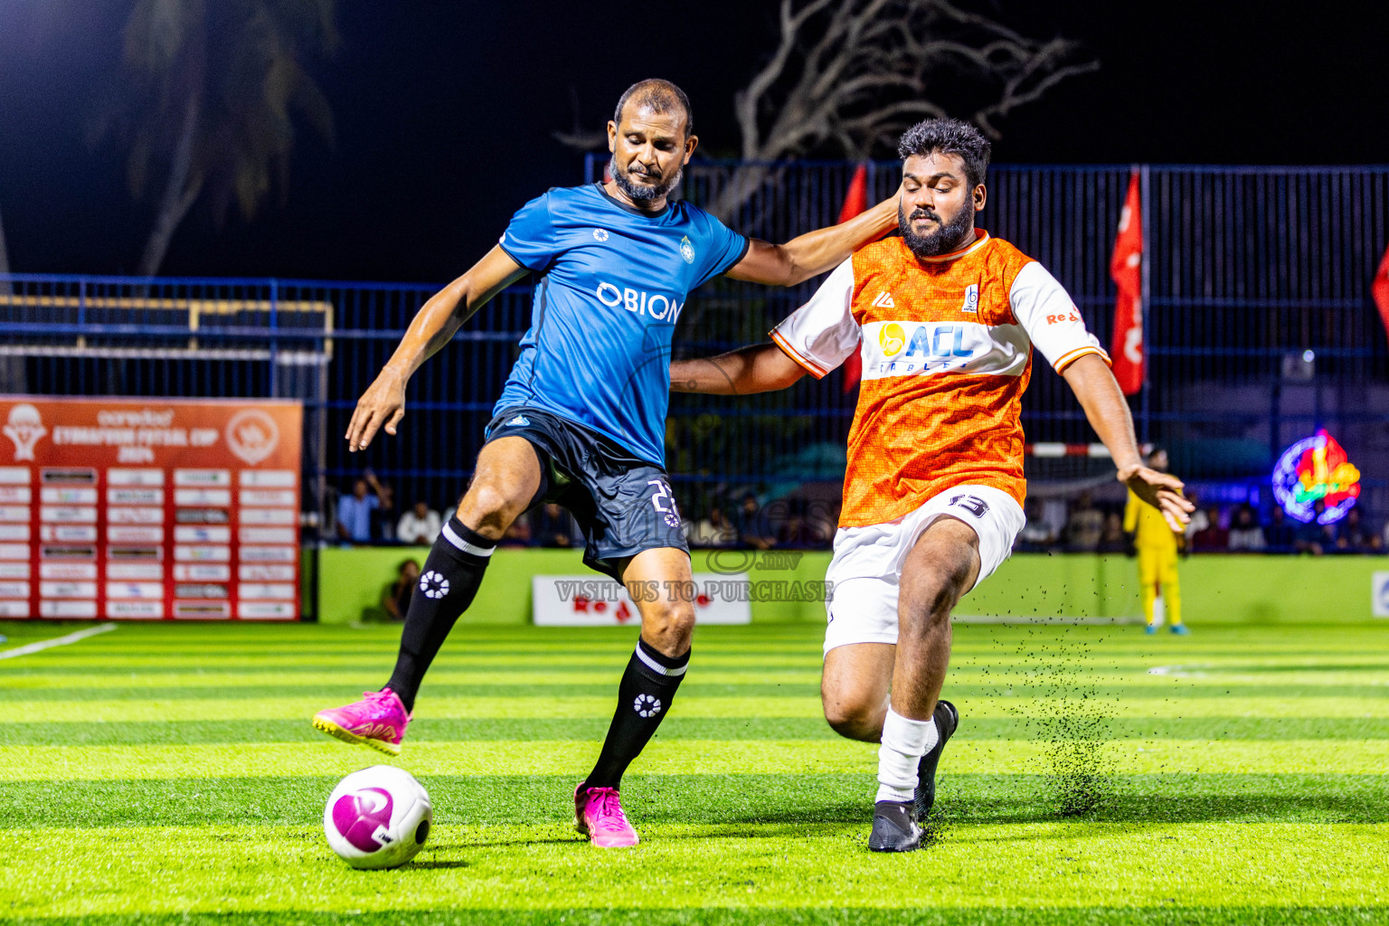
[[[1013,553],[1026,518],[1008,493],[992,486],[956,486],[911,514],[867,528],[840,528],[825,580],[825,653],[849,643],[897,641],[897,593],[901,565],[922,532],[938,518],[957,518],[979,536],[979,578],[993,575]]]

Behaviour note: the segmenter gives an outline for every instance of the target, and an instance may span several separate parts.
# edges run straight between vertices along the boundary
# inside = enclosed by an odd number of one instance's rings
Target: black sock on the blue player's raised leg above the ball
[[[458,615],[472,604],[496,548],[496,540],[488,540],[457,518],[449,518],[435,540],[419,573],[419,584],[410,596],[406,629],[400,634],[400,655],[396,657],[396,671],[386,683],[386,687],[400,696],[407,711],[415,709],[419,682]]]

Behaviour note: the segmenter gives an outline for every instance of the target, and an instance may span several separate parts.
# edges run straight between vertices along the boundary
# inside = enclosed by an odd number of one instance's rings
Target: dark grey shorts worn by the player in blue
[[[503,410],[483,432],[525,437],[540,458],[540,490],[531,507],[553,501],[569,510],[583,532],[583,562],[614,579],[621,561],[643,550],[689,553],[669,476],[603,435],[529,405]]]

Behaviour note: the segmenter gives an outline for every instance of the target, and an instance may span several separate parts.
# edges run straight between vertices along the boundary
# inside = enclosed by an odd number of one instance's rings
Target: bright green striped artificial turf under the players
[[[1389,626],[958,626],[963,725],[910,855],[865,848],[876,759],[820,719],[820,633],[697,632],[622,851],[574,833],[569,791],[632,629],[460,628],[399,761],[308,726],[383,682],[392,628],[124,625],[0,661],[0,920],[1389,922]],[[322,807],[379,762],[436,826],[354,872]]]

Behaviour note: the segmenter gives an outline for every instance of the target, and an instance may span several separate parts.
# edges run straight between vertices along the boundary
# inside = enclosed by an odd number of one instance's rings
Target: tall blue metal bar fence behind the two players
[[[703,162],[682,192],[746,233],[786,240],[836,219],[853,169]],[[1389,515],[1389,351],[1368,294],[1389,233],[1389,168],[995,167],[979,224],[1047,265],[1104,342],[1110,249],[1135,169],[1151,380],[1135,401],[1142,436],[1168,444],[1190,479],[1257,486],[1283,446],[1326,426],[1364,472],[1364,504]],[[871,164],[872,196],[897,176],[896,162]],[[746,196],[731,197],[740,183]],[[394,485],[399,507],[450,505],[531,315],[529,286],[493,300],[415,376],[400,436],[349,455],[340,437],[357,396],[435,285],[15,275],[6,289],[0,392],[301,398],[319,505],[365,468]],[[763,340],[811,292],[717,280],[692,294],[675,350]],[[1045,367],[1025,397],[1029,440],[1086,441],[1083,414]],[[838,373],[738,401],[675,396],[668,464],[688,514],[749,489],[832,486],[853,405]]]

